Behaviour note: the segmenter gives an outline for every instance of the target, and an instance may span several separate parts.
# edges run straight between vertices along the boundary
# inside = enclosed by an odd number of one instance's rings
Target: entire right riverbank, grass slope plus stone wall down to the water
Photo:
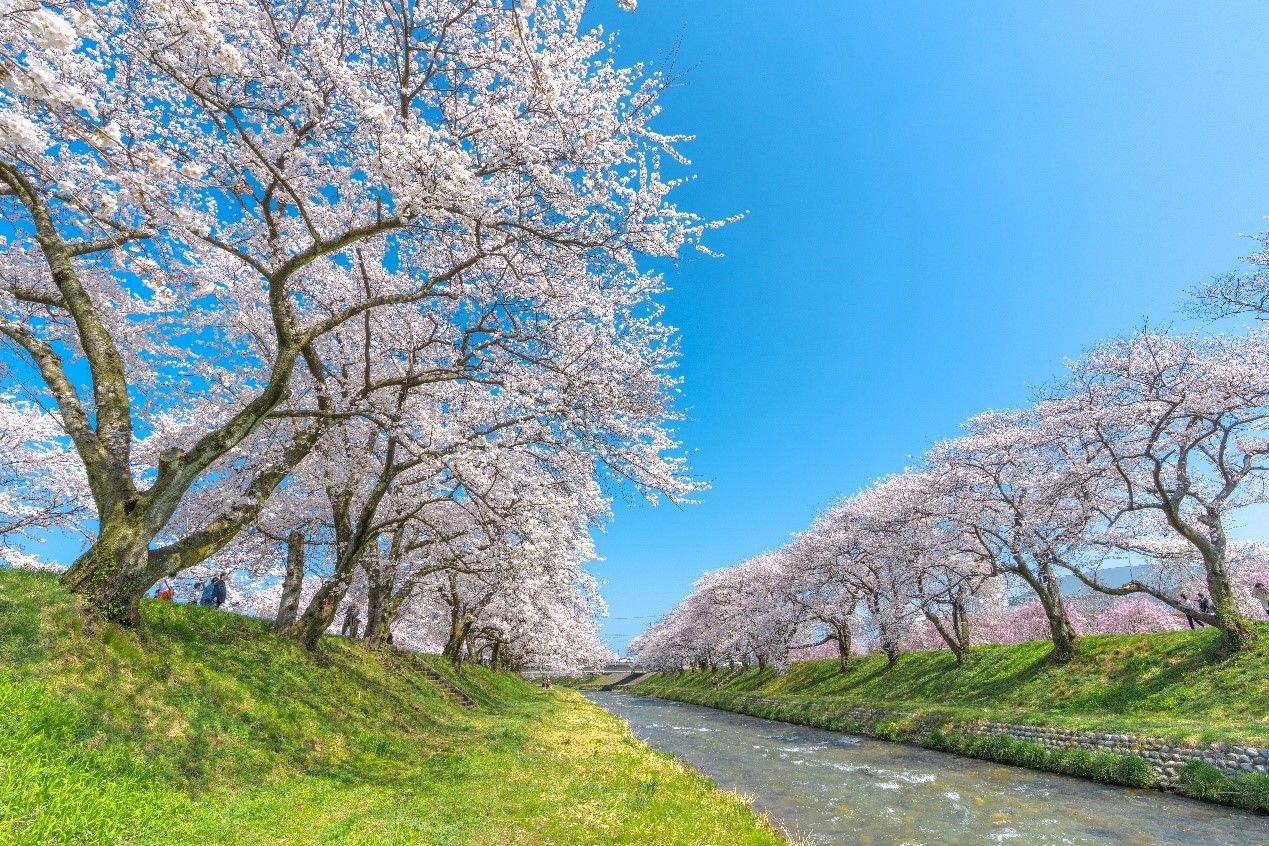
[[[631,690],[1269,810],[1266,639],[1221,656],[1211,629],[1095,635],[1065,666],[1046,661],[1047,643],[1022,643],[976,647],[964,667],[917,652],[845,672],[808,661],[657,674]]]

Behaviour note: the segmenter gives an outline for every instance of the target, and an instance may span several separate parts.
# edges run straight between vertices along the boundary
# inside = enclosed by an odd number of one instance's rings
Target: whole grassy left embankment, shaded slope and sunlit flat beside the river
[[[753,843],[745,803],[571,691],[0,571],[0,843]]]

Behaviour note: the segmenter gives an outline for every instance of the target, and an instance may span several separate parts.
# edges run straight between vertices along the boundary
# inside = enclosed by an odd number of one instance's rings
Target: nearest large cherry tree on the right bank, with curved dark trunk
[[[1038,413],[1094,474],[1100,542],[1162,562],[1197,558],[1204,613],[1148,580],[1123,586],[1068,559],[1086,585],[1147,594],[1218,627],[1232,646],[1254,639],[1230,572],[1228,521],[1269,501],[1269,336],[1198,337],[1141,331],[1075,363]]]

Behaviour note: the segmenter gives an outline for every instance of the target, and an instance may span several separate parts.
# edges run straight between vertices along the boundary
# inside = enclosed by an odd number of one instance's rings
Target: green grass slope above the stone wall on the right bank
[[[784,674],[747,670],[713,689],[713,674],[659,674],[636,693],[727,706],[741,696],[840,710],[868,706],[954,719],[996,719],[1134,732],[1179,741],[1269,745],[1269,627],[1258,644],[1222,654],[1218,634],[1104,634],[1080,641],[1076,658],[1055,666],[1047,642],[982,646],[957,667],[947,651],[794,663]],[[717,674],[726,677],[725,671]]]

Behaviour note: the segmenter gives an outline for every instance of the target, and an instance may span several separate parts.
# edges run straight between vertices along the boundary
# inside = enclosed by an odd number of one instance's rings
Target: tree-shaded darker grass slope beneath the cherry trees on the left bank
[[[66,705],[58,755],[124,748],[192,793],[301,774],[391,784],[426,765],[420,748],[478,728],[404,656],[322,649],[319,663],[265,621],[169,602],[142,602],[137,629],[90,627],[52,576],[0,571],[0,675]]]

